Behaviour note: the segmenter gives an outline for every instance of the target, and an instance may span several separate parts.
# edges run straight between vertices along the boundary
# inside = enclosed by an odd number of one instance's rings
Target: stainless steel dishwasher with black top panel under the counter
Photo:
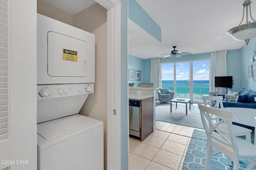
[[[140,138],[140,101],[129,100],[129,134]]]

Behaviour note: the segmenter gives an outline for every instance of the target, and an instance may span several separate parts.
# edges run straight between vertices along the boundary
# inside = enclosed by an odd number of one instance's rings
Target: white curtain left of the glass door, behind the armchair
[[[162,87],[162,68],[160,58],[151,59],[150,83],[154,83],[154,87]]]

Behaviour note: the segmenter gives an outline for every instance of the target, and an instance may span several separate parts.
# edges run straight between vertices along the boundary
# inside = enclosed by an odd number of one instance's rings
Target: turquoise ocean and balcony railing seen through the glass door
[[[174,83],[162,83],[162,88],[168,88],[174,91]],[[202,96],[207,95],[209,91],[209,84],[193,84],[193,100],[202,101]],[[176,83],[176,97],[191,98],[189,96],[190,87],[188,83]]]

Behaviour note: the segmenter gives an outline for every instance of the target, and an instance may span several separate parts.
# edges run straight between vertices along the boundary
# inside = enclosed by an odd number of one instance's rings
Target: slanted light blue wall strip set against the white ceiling
[[[161,28],[135,0],[129,0],[129,18],[151,36],[162,42]]]

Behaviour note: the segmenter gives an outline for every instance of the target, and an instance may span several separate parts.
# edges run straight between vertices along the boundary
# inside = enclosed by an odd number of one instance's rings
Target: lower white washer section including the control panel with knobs
[[[38,170],[104,169],[103,122],[76,114],[93,85],[37,86]]]

